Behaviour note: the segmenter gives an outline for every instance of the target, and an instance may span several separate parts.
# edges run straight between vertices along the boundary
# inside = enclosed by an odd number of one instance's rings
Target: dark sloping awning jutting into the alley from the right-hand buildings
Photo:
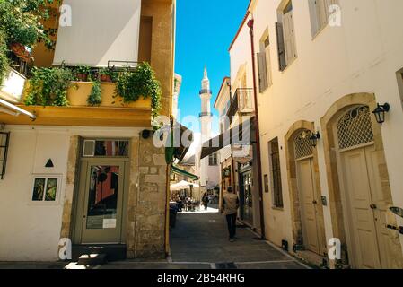
[[[203,143],[201,159],[206,156],[218,152],[228,145],[250,145],[256,142],[254,130],[254,117],[250,118],[250,121],[243,122],[239,126],[234,126],[221,135],[212,138],[206,143]]]

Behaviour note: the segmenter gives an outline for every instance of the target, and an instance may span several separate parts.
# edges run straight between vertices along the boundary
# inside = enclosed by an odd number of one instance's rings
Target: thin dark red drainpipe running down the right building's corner
[[[255,135],[256,135],[256,163],[258,165],[258,200],[260,206],[260,229],[261,229],[261,239],[266,239],[265,230],[265,216],[264,216],[264,206],[263,206],[263,187],[262,187],[262,165],[260,157],[260,131],[258,127],[258,91],[256,84],[256,65],[255,65],[255,42],[253,33],[254,20],[250,19],[248,22],[248,27],[250,28],[250,46],[251,46],[251,56],[252,56],[252,72],[253,72],[253,97],[255,103]]]

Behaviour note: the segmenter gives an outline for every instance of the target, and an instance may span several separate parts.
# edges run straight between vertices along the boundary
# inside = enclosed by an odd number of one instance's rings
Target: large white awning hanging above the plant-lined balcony
[[[107,66],[108,61],[137,61],[141,0],[65,0],[54,65]]]

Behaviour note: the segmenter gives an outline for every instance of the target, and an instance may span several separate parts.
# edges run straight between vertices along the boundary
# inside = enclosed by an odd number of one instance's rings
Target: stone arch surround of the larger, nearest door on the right
[[[349,235],[346,234],[346,208],[343,208],[343,206],[346,206],[346,204],[344,203],[344,199],[342,196],[342,187],[340,187],[340,171],[337,164],[337,152],[335,150],[337,146],[337,137],[335,137],[334,125],[335,123],[337,123],[337,120],[342,115],[344,115],[349,109],[352,109],[355,106],[368,106],[370,110],[375,109],[377,107],[375,95],[373,93],[366,92],[346,95],[337,100],[333,105],[331,105],[325,116],[320,119],[326,162],[326,174],[329,187],[329,209],[332,221],[333,237],[340,239],[342,243],[341,260],[337,262],[331,262],[331,265],[336,267],[348,266],[351,264],[351,260],[349,260],[350,258],[347,256],[347,254],[349,253],[348,249],[351,245],[347,243],[347,236]],[[381,166],[381,171],[379,175],[381,181],[384,182],[384,184],[382,185],[382,193],[384,195],[390,196],[391,198],[390,179],[383,149],[381,126],[376,122],[375,117],[371,117],[371,121],[375,151],[379,152],[378,160]],[[395,221],[396,223],[396,218],[393,218],[392,221]],[[393,250],[393,252],[390,251],[390,254],[388,256],[396,257],[396,260],[393,260],[393,265],[388,267],[403,268],[403,256],[401,256],[402,252],[399,241],[399,234],[394,234],[390,232],[390,240],[394,242],[396,246],[395,250]]]

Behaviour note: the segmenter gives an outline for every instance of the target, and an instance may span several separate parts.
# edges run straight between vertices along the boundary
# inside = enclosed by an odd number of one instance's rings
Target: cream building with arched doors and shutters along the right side
[[[402,268],[403,2],[253,0],[267,239],[331,267]],[[390,107],[384,123],[372,111]],[[388,107],[384,106],[384,108]],[[388,110],[388,109],[387,109]],[[335,241],[334,241],[335,242]]]

